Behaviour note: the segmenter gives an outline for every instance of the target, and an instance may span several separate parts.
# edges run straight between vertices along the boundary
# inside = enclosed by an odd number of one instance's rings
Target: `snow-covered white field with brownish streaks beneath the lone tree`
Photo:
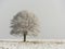
[[[65,49],[65,40],[0,40],[0,49]]]

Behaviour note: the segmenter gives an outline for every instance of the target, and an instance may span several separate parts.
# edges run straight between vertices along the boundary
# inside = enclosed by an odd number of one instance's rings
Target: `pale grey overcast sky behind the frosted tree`
[[[0,38],[17,38],[10,35],[10,22],[22,10],[34,12],[40,20],[35,39],[65,39],[65,0],[0,0]]]

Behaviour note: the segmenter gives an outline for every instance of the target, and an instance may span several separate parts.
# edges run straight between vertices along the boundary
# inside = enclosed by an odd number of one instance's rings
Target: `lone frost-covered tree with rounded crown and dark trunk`
[[[11,21],[11,35],[24,36],[24,41],[26,41],[27,35],[38,34],[38,19],[36,15],[28,11],[21,11],[14,15]]]

